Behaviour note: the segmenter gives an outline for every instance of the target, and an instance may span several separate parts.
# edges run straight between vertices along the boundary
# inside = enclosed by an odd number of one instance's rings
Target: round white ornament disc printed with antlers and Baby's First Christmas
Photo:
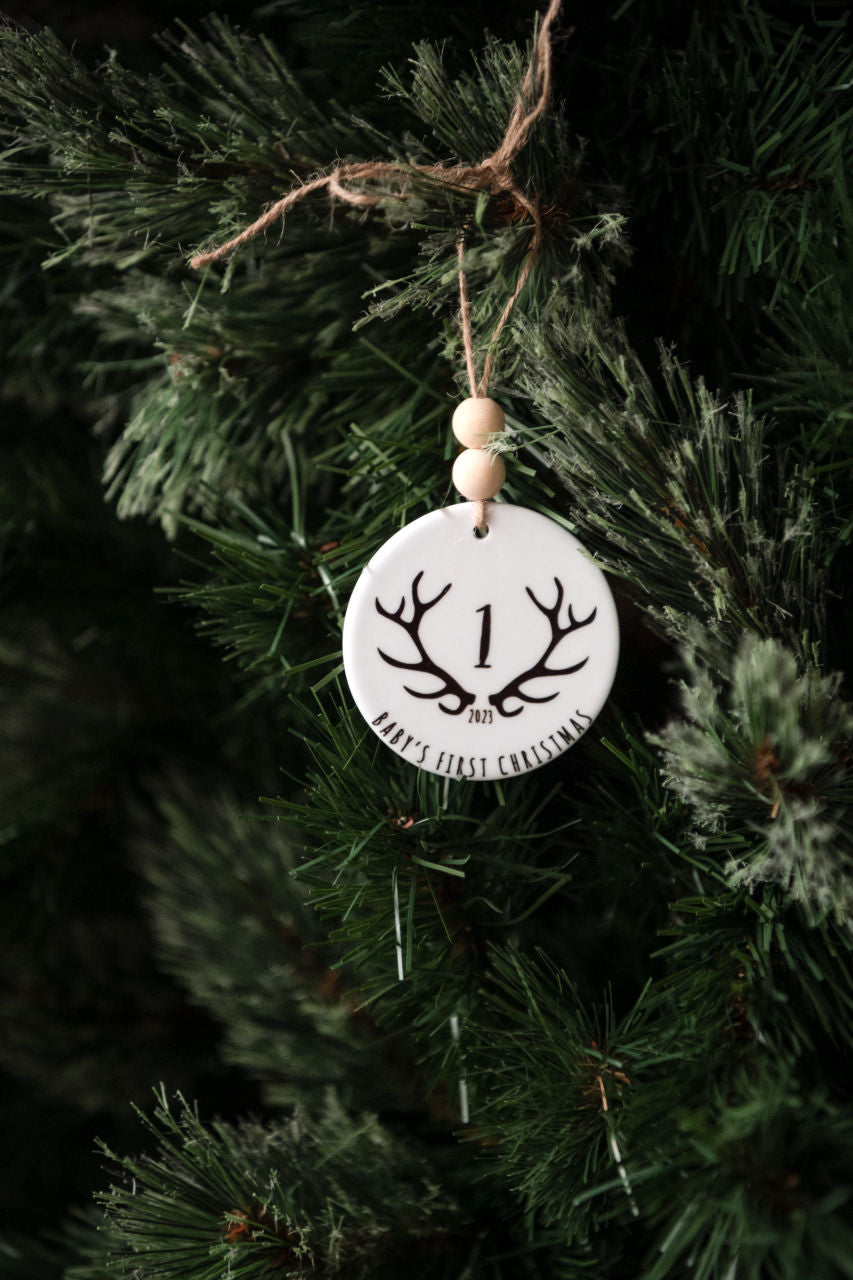
[[[444,777],[512,778],[589,728],[616,673],[605,575],[553,520],[492,503],[433,511],[356,582],[343,666],[373,731]]]

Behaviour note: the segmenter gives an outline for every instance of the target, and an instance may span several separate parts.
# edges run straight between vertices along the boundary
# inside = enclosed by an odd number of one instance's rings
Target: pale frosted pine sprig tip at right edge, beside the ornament
[[[839,678],[800,676],[790,653],[757,636],[734,655],[725,703],[698,655],[690,666],[686,723],[660,741],[669,785],[694,809],[697,842],[744,829],[740,847],[729,840],[722,850],[733,884],[779,884],[808,915],[849,928],[853,712]]]

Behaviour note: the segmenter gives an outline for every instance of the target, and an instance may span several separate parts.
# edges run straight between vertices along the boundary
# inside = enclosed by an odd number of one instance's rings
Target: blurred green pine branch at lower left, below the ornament
[[[355,1105],[414,1106],[412,1062],[361,1012],[338,948],[295,882],[282,831],[188,782],[159,797],[167,840],[137,847],[159,955],[223,1025],[223,1056],[282,1106],[330,1087]],[[394,1057],[397,1061],[394,1061]]]

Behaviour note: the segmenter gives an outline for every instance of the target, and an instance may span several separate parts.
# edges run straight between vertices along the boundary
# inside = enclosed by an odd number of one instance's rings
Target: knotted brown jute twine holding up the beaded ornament
[[[369,209],[371,206],[380,205],[383,200],[387,200],[387,193],[370,193],[369,191],[357,189],[359,184],[387,182],[388,179],[396,178],[402,183],[396,195],[398,198],[406,200],[410,195],[410,191],[406,189],[407,186],[411,186],[416,177],[426,177],[444,183],[450,188],[456,188],[457,191],[483,191],[489,196],[510,196],[515,202],[515,206],[524,210],[530,219],[533,233],[530,236],[530,244],[512,294],[498,316],[494,330],[487,343],[483,372],[479,381],[474,364],[471,316],[467,282],[465,279],[464,270],[464,232],[456,244],[459,253],[460,321],[462,329],[462,347],[465,351],[465,367],[471,396],[474,398],[485,396],[489,379],[492,376],[498,338],[510,319],[512,307],[530,278],[533,264],[535,262],[542,246],[543,228],[538,204],[535,198],[525,195],[516,182],[512,173],[512,163],[528,141],[533,125],[551,101],[551,28],[557,18],[561,5],[562,0],[551,0],[548,5],[539,26],[533,58],[530,59],[524,81],[521,82],[519,96],[515,100],[515,105],[506,127],[506,133],[503,134],[501,145],[492,152],[492,155],[485,156],[484,160],[480,160],[479,164],[475,165],[402,165],[393,160],[369,160],[336,165],[330,173],[321,174],[318,178],[313,178],[310,182],[293,187],[286,196],[270,205],[270,207],[266,209],[260,218],[251,223],[250,227],[246,227],[245,230],[240,232],[238,236],[234,236],[224,244],[220,244],[218,248],[209,250],[205,253],[196,253],[190,259],[190,266],[199,270],[202,266],[207,266],[210,262],[219,261],[231,253],[232,250],[236,250],[247,241],[260,236],[261,232],[265,232],[279,219],[284,219],[287,211],[292,209],[293,205],[305,200],[307,196],[314,195],[316,191],[328,191],[330,200],[337,200],[343,205],[355,205],[356,207]],[[534,82],[538,90],[538,96],[535,99],[533,99]],[[484,504],[482,502],[479,503],[476,527],[480,531],[485,527]]]

